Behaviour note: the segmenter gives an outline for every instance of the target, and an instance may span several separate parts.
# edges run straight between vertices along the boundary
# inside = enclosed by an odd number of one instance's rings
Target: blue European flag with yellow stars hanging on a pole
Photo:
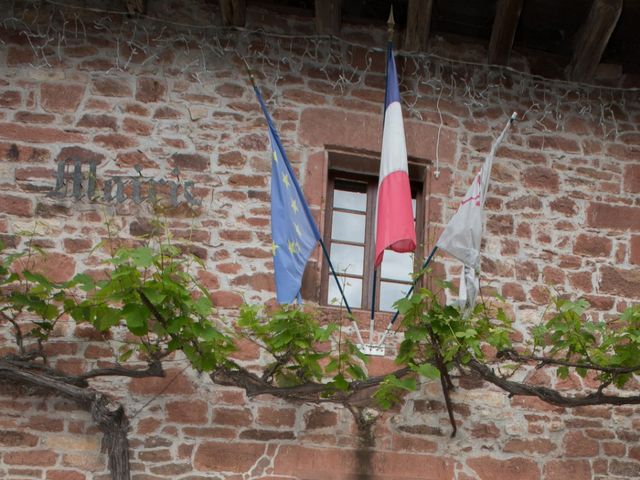
[[[300,285],[311,252],[320,240],[309,206],[280,143],[260,91],[254,87],[271,141],[271,252],[278,303],[300,301]]]

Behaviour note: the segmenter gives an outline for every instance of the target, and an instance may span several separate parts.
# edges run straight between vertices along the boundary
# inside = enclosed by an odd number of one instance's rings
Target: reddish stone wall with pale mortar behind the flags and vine
[[[260,10],[250,10],[245,31],[178,25],[197,19],[219,24],[209,11],[213,7],[194,5],[203,10],[164,17],[173,24],[56,7],[41,16],[27,11],[24,23],[4,22],[0,237],[16,248],[31,238],[48,252],[39,269],[66,280],[82,271],[99,275],[111,246],[148,232],[149,220],[160,215],[176,242],[202,258],[206,267],[199,278],[232,318],[243,300],[274,297],[268,138],[238,54],[254,69],[321,219],[326,151],[379,151],[384,53],[374,46],[383,44],[384,32],[345,26],[344,41],[310,40],[310,20]],[[43,18],[55,28],[47,30],[45,23],[36,30]],[[298,36],[251,30],[257,26]],[[438,42],[438,52],[465,61],[482,54],[477,46],[447,50]],[[514,62],[527,69],[525,59]],[[517,111],[522,121],[498,152],[489,190],[484,291],[508,299],[523,336],[556,294],[585,296],[597,319],[609,319],[638,300],[637,91],[548,81],[438,57],[400,55],[398,66],[409,155],[428,165],[425,250]],[[51,195],[59,164],[68,159],[66,180]],[[84,175],[78,199],[75,160]],[[90,200],[92,162],[98,193]],[[116,195],[116,177],[127,178],[122,202],[104,196],[108,179]],[[166,202],[173,185],[183,201],[153,212],[148,202],[134,201],[132,179],[139,180],[142,198],[149,194],[148,179],[174,182],[158,184],[159,195]],[[185,189],[199,205],[184,201]],[[317,253],[312,287],[320,262]],[[437,266],[447,278],[459,272],[444,257]],[[360,314],[365,325],[365,312]],[[376,330],[387,321],[381,315]],[[8,330],[0,341],[1,351],[10,351]],[[68,322],[47,349],[52,365],[77,373],[112,361],[117,346],[116,339],[105,341]],[[261,355],[249,345],[240,353],[247,365],[264,360]],[[391,356],[374,359],[369,371],[392,366]],[[461,378],[453,394],[455,438],[449,437],[436,384],[423,385],[370,430],[359,431],[344,408],[248,399],[198,376],[181,358],[167,367],[164,379],[94,383],[127,408],[138,480],[640,476],[634,407],[562,409],[509,399]],[[529,381],[563,390],[589,386],[577,376],[560,382],[545,370],[529,374]],[[59,398],[1,388],[1,477],[109,478],[87,413]]]

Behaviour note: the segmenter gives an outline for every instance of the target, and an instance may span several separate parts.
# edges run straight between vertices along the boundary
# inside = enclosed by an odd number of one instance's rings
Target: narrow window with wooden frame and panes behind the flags
[[[366,161],[365,161],[366,160]],[[372,301],[373,262],[375,257],[375,207],[378,189],[379,159],[347,154],[330,154],[324,241],[331,262],[343,287],[349,306],[370,309]],[[360,165],[361,168],[357,168]],[[359,170],[358,173],[350,170]],[[423,243],[424,166],[410,167],[411,194],[414,219],[417,219],[418,261]],[[396,300],[404,297],[411,287],[414,255],[385,251],[384,260],[376,274],[375,309],[393,311]],[[322,272],[321,302],[340,304],[342,298],[327,262]]]

